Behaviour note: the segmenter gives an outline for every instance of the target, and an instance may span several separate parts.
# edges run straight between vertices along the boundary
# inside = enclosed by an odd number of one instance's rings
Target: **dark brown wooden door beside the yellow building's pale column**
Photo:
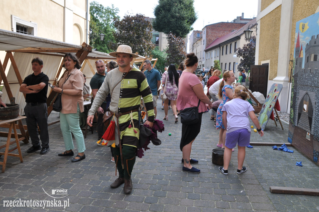
[[[262,93],[266,98],[268,84],[268,65],[251,65],[249,90]]]

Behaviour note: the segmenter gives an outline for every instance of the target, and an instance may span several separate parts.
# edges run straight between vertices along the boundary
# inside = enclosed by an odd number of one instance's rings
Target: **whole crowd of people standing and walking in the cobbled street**
[[[219,79],[221,71],[211,68],[207,73],[206,85],[204,81],[206,72],[205,75],[195,74],[198,58],[194,53],[187,54],[186,59],[181,61],[177,69],[174,64],[169,64],[162,76],[152,67],[150,60],[143,62],[143,72],[131,66],[131,61],[138,55],[132,53],[130,46],[120,45],[110,55],[116,57],[116,62],[95,61],[97,72],[90,80],[92,105],[87,111],[87,124],[92,127],[93,122],[96,122],[97,144],[111,149],[111,161],[115,162],[119,175],[110,185],[112,188],[124,184],[124,193],[131,193],[133,188],[131,173],[137,148],[141,145],[139,143],[141,125],[151,130],[154,130],[154,127],[163,126],[169,119],[169,106],[175,123],[179,121],[178,115],[183,114],[188,108],[195,107],[198,111],[195,122],[187,123],[185,120],[180,120],[182,122],[180,141],[182,171],[200,173],[200,170],[193,166],[198,163],[198,160],[191,158],[191,150],[194,140],[200,133],[202,115],[209,110],[211,110],[210,119],[213,123],[216,122],[216,129],[220,129],[219,141],[216,145],[224,149],[224,166],[219,167],[219,170],[223,174],[228,174],[231,154],[237,145],[237,173],[246,171],[243,163],[245,148],[250,140],[249,117],[261,136],[263,131],[253,107],[246,101],[249,94],[244,86],[245,70],[240,72],[238,81],[234,84],[234,72],[225,71]],[[26,94],[24,112],[32,143],[27,153],[41,150],[40,154],[47,154],[50,151],[46,104],[48,86],[50,86],[54,92],[61,95],[62,103],[59,115],[65,151],[58,156],[74,155],[73,134],[78,154],[72,158],[71,162],[78,162],[85,159],[85,142],[79,117],[80,113],[84,112],[84,99],[91,97],[90,87],[85,84],[86,76],[80,71],[81,64],[74,54],[66,54],[63,61],[65,72],[56,86],[51,85],[48,82],[48,76],[41,72],[43,61],[39,57],[31,62],[33,74],[27,76],[20,86],[20,92]],[[207,86],[207,93],[204,93],[205,86]],[[165,112],[161,120],[156,119],[159,90],[164,94],[160,95],[163,96],[160,101]],[[2,92],[0,92],[0,105],[5,107],[1,96]],[[141,111],[141,97],[145,112]],[[143,113],[146,113],[145,121]],[[108,121],[111,124],[106,124]],[[110,138],[107,141],[104,139],[105,134],[108,134]]]

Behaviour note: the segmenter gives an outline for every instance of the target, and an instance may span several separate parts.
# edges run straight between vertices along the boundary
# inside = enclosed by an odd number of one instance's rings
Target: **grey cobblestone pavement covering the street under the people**
[[[158,119],[164,117],[158,100]],[[52,112],[50,122],[57,119]],[[64,143],[60,124],[49,126],[51,151],[40,155],[37,151],[28,154],[31,144],[20,142],[23,163],[17,157],[8,156],[4,173],[0,173],[0,211],[318,211],[319,198],[307,195],[270,193],[269,186],[300,188],[319,187],[319,167],[295,148],[293,153],[273,150],[270,146],[246,148],[241,175],[237,169],[237,148],[232,155],[229,174],[223,175],[218,166],[211,163],[211,150],[216,148],[218,133],[210,120],[210,113],[203,114],[201,133],[193,143],[191,157],[199,160],[194,166],[201,173],[182,172],[182,152],[179,149],[181,123],[174,123],[172,110],[165,121],[165,131],[159,133],[160,146],[150,145],[143,158],[137,158],[132,173],[133,191],[124,195],[123,185],[112,189],[115,163],[110,161],[107,147],[96,145],[97,133],[88,133],[85,139],[86,158],[71,163],[71,157],[58,157]],[[276,127],[270,120],[264,137],[251,133],[252,142],[287,143],[288,125]],[[4,129],[1,129],[2,131]],[[7,130],[7,129],[6,129]],[[172,133],[171,136],[168,133]],[[1,144],[5,139],[1,138]],[[75,143],[75,142],[74,142]],[[76,147],[76,143],[75,143]],[[73,150],[75,153],[77,149]],[[15,150],[14,152],[17,152]],[[3,156],[0,158],[3,161]],[[296,166],[302,161],[303,166]],[[68,189],[67,197],[52,195],[52,189]],[[3,207],[12,200],[57,200],[69,201],[69,207]],[[5,201],[5,202],[4,202]]]

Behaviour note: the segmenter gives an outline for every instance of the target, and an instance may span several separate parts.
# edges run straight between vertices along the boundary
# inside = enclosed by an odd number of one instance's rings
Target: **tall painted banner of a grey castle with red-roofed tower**
[[[318,163],[319,12],[296,23],[288,141]]]

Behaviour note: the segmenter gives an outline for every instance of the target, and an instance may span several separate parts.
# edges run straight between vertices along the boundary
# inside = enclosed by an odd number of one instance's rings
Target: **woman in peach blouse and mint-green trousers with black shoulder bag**
[[[67,53],[64,56],[64,64],[66,71],[63,77],[59,80],[59,87],[54,87],[53,90],[61,93],[62,110],[60,111],[60,127],[63,135],[65,152],[59,153],[59,156],[73,156],[72,149],[73,139],[72,134],[77,142],[78,155],[72,159],[72,162],[78,162],[85,158],[84,137],[80,128],[79,118],[80,112],[84,111],[83,106],[83,84],[84,77],[79,70],[81,64],[78,58]]]

